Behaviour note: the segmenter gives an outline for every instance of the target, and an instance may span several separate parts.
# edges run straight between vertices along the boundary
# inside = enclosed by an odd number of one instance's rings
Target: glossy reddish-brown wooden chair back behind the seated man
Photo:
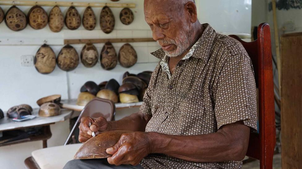
[[[242,43],[252,60],[258,88],[258,133],[251,133],[247,156],[260,160],[260,168],[272,168],[276,143],[274,82],[270,26],[258,26],[257,40],[244,42],[236,35],[230,37]]]

